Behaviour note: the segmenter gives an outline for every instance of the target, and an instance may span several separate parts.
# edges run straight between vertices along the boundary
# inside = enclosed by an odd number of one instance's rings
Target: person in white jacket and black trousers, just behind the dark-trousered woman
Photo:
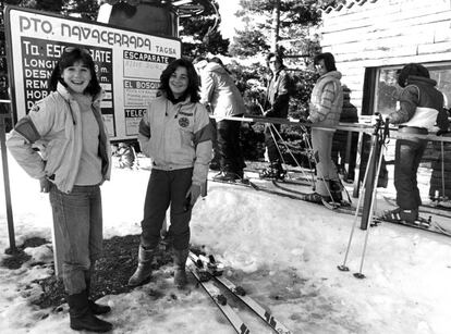
[[[241,122],[221,120],[221,116],[242,116],[245,112],[243,97],[219,58],[210,62],[202,60],[195,65],[200,73],[200,103],[209,104],[216,116],[220,172],[215,180],[241,180],[245,166],[240,145]]]

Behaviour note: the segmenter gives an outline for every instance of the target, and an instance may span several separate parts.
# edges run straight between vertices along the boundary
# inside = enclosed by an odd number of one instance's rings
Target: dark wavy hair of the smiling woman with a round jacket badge
[[[190,95],[192,102],[198,102],[200,100],[199,78],[197,76],[196,70],[194,69],[193,63],[187,59],[176,59],[163,70],[160,76],[160,90],[163,91],[169,99],[173,98],[172,90],[169,87],[169,78],[176,71],[178,67],[185,67],[188,76],[188,86],[183,96],[186,97],[187,95]]]

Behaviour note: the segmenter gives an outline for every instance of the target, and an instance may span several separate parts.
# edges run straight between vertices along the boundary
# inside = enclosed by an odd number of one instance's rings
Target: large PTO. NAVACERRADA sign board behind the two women
[[[89,50],[106,92],[101,104],[112,140],[136,138],[162,70],[181,41],[52,13],[7,7],[8,63],[14,121],[48,95],[48,78],[65,47]]]

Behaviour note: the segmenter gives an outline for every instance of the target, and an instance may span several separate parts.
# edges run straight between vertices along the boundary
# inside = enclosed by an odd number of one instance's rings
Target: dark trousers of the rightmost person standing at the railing
[[[403,127],[400,133],[427,134],[425,128]],[[397,203],[401,209],[417,209],[422,198],[416,181],[419,162],[426,149],[427,140],[398,139],[394,153],[394,187]]]

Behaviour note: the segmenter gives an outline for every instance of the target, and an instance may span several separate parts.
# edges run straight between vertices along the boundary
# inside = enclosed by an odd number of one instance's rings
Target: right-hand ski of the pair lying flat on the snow
[[[254,313],[261,318],[268,326],[270,326],[276,333],[279,334],[292,334],[280,321],[276,319],[271,313],[265,310],[257,301],[246,295],[243,287],[236,286],[233,282],[222,276],[223,265],[216,262],[212,256],[205,257],[203,255],[196,256],[193,251],[190,251],[191,260],[196,263],[198,269],[205,269],[212,279],[219,282],[223,287],[230,290],[241,301],[244,302]]]

